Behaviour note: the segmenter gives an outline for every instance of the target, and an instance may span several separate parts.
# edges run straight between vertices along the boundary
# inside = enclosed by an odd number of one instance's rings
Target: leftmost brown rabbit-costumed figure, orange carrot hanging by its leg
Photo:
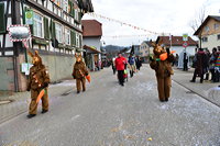
[[[47,88],[50,76],[45,66],[42,64],[42,58],[38,56],[38,53],[35,50],[35,55],[33,55],[29,52],[29,55],[32,57],[33,64],[28,80],[28,91],[31,91],[31,103],[28,117],[31,119],[36,115],[40,99],[42,100],[42,113],[48,111]]]

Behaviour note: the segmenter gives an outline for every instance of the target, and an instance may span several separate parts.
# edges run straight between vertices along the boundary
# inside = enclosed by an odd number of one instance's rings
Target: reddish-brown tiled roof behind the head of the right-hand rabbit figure
[[[158,36],[157,40],[162,40],[165,46],[170,46],[169,36]],[[196,46],[197,42],[194,41],[190,36],[188,36],[187,41],[189,46]],[[183,36],[172,36],[172,46],[183,46],[184,41]]]

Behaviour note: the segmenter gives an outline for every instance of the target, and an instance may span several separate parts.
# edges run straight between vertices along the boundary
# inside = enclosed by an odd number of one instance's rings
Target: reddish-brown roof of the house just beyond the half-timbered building
[[[97,20],[81,20],[82,24],[82,36],[84,37],[95,37],[102,35],[101,23]]]

